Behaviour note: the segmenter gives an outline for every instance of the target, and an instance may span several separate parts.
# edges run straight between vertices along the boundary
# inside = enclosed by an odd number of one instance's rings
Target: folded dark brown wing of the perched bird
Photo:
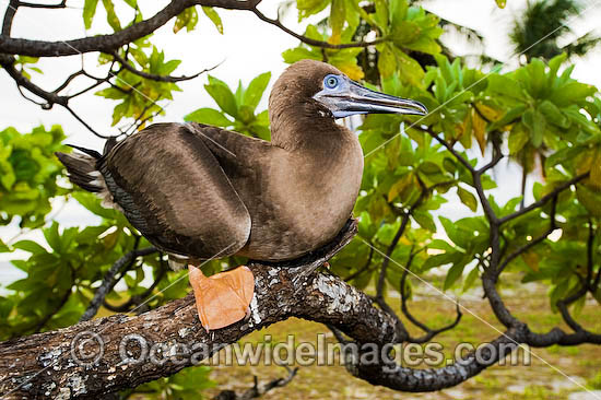
[[[163,250],[221,258],[248,240],[245,203],[190,126],[153,125],[115,145],[98,169],[131,224]]]

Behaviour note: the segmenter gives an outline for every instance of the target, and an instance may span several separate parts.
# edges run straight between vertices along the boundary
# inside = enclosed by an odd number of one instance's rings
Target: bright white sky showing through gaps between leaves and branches
[[[48,0],[48,2],[50,2]],[[140,1],[145,17],[153,15],[162,9],[167,1]],[[69,0],[71,7],[68,10],[37,10],[20,9],[13,23],[14,37],[38,38],[45,40],[64,40],[69,38],[82,37],[86,33],[81,17],[83,0]],[[264,0],[260,9],[269,16],[275,16],[279,1]],[[480,31],[486,37],[486,51],[500,60],[508,61],[515,66],[516,57],[511,57],[511,50],[508,46],[507,32],[511,24],[512,15],[516,11],[522,9],[526,0],[508,0],[507,8],[500,10],[496,7],[494,0],[429,0],[424,2],[424,7],[448,20],[463,24],[466,26]],[[599,15],[601,1],[589,0],[589,5],[584,13],[587,17],[574,21],[573,27],[578,35],[581,35],[596,26],[593,14]],[[0,0],[0,13],[3,14],[8,5],[8,0]],[[129,12],[123,5],[119,11]],[[217,10],[224,24],[224,35],[220,35],[213,24],[199,12],[200,21],[197,30],[192,33],[180,32],[173,34],[173,21],[158,30],[153,38],[153,43],[163,49],[167,59],[182,60],[174,75],[191,74],[199,70],[213,67],[219,62],[223,63],[211,72],[211,74],[235,87],[239,79],[245,84],[259,73],[271,71],[272,82],[285,69],[281,54],[283,50],[296,47],[298,42],[292,36],[286,35],[274,26],[259,21],[252,13],[244,11]],[[119,15],[121,15],[120,13]],[[51,15],[51,16],[49,16]],[[125,19],[123,19],[125,20]],[[98,4],[98,14],[91,32],[87,34],[98,34],[110,32],[108,25],[104,22],[104,9],[102,2]],[[286,14],[283,23],[298,33],[303,33],[306,23],[299,25],[296,19],[296,12]],[[472,52],[464,46],[461,46],[453,38],[448,38],[453,43],[453,48],[458,54]],[[601,64],[601,52],[596,50],[586,59],[577,62],[574,77],[601,86],[601,74],[599,66]],[[96,69],[96,56],[94,54],[84,57],[86,69],[94,71]],[[64,57],[60,59],[44,59],[40,61],[44,75],[34,74],[34,81],[52,90],[58,86],[68,73],[80,69],[81,58]],[[102,70],[98,70],[102,71]],[[204,106],[214,106],[203,89],[207,82],[205,77],[198,78],[189,82],[181,82],[179,86],[182,92],[176,92],[173,102],[166,106],[166,116],[158,118],[164,121],[181,121],[182,117]],[[269,89],[268,89],[269,91]],[[0,70],[0,130],[13,126],[20,131],[30,131],[33,127],[40,123],[47,127],[54,123],[62,125],[69,136],[69,143],[80,144],[93,149],[102,149],[103,141],[95,138],[86,131],[67,110],[60,106],[55,106],[51,110],[43,110],[39,106],[25,101],[16,90],[13,81]],[[267,107],[267,95],[259,107]],[[113,107],[116,103],[106,101],[94,95],[84,95],[72,102],[73,108],[92,127],[105,134],[115,134],[116,130],[110,127]],[[499,191],[504,198],[510,198],[517,195],[516,174],[519,170],[512,166],[500,166],[496,170],[496,179],[500,185],[508,184],[508,187]],[[446,204],[441,213],[453,217],[470,214],[468,209],[457,202]],[[79,204],[68,204],[56,217],[64,226],[83,225],[91,223],[91,215]],[[16,226],[0,227],[0,237],[4,240],[15,235]],[[10,258],[14,258],[14,254]],[[7,255],[0,255],[0,260],[7,259]],[[12,267],[0,263],[0,282],[7,282],[14,279]]]

